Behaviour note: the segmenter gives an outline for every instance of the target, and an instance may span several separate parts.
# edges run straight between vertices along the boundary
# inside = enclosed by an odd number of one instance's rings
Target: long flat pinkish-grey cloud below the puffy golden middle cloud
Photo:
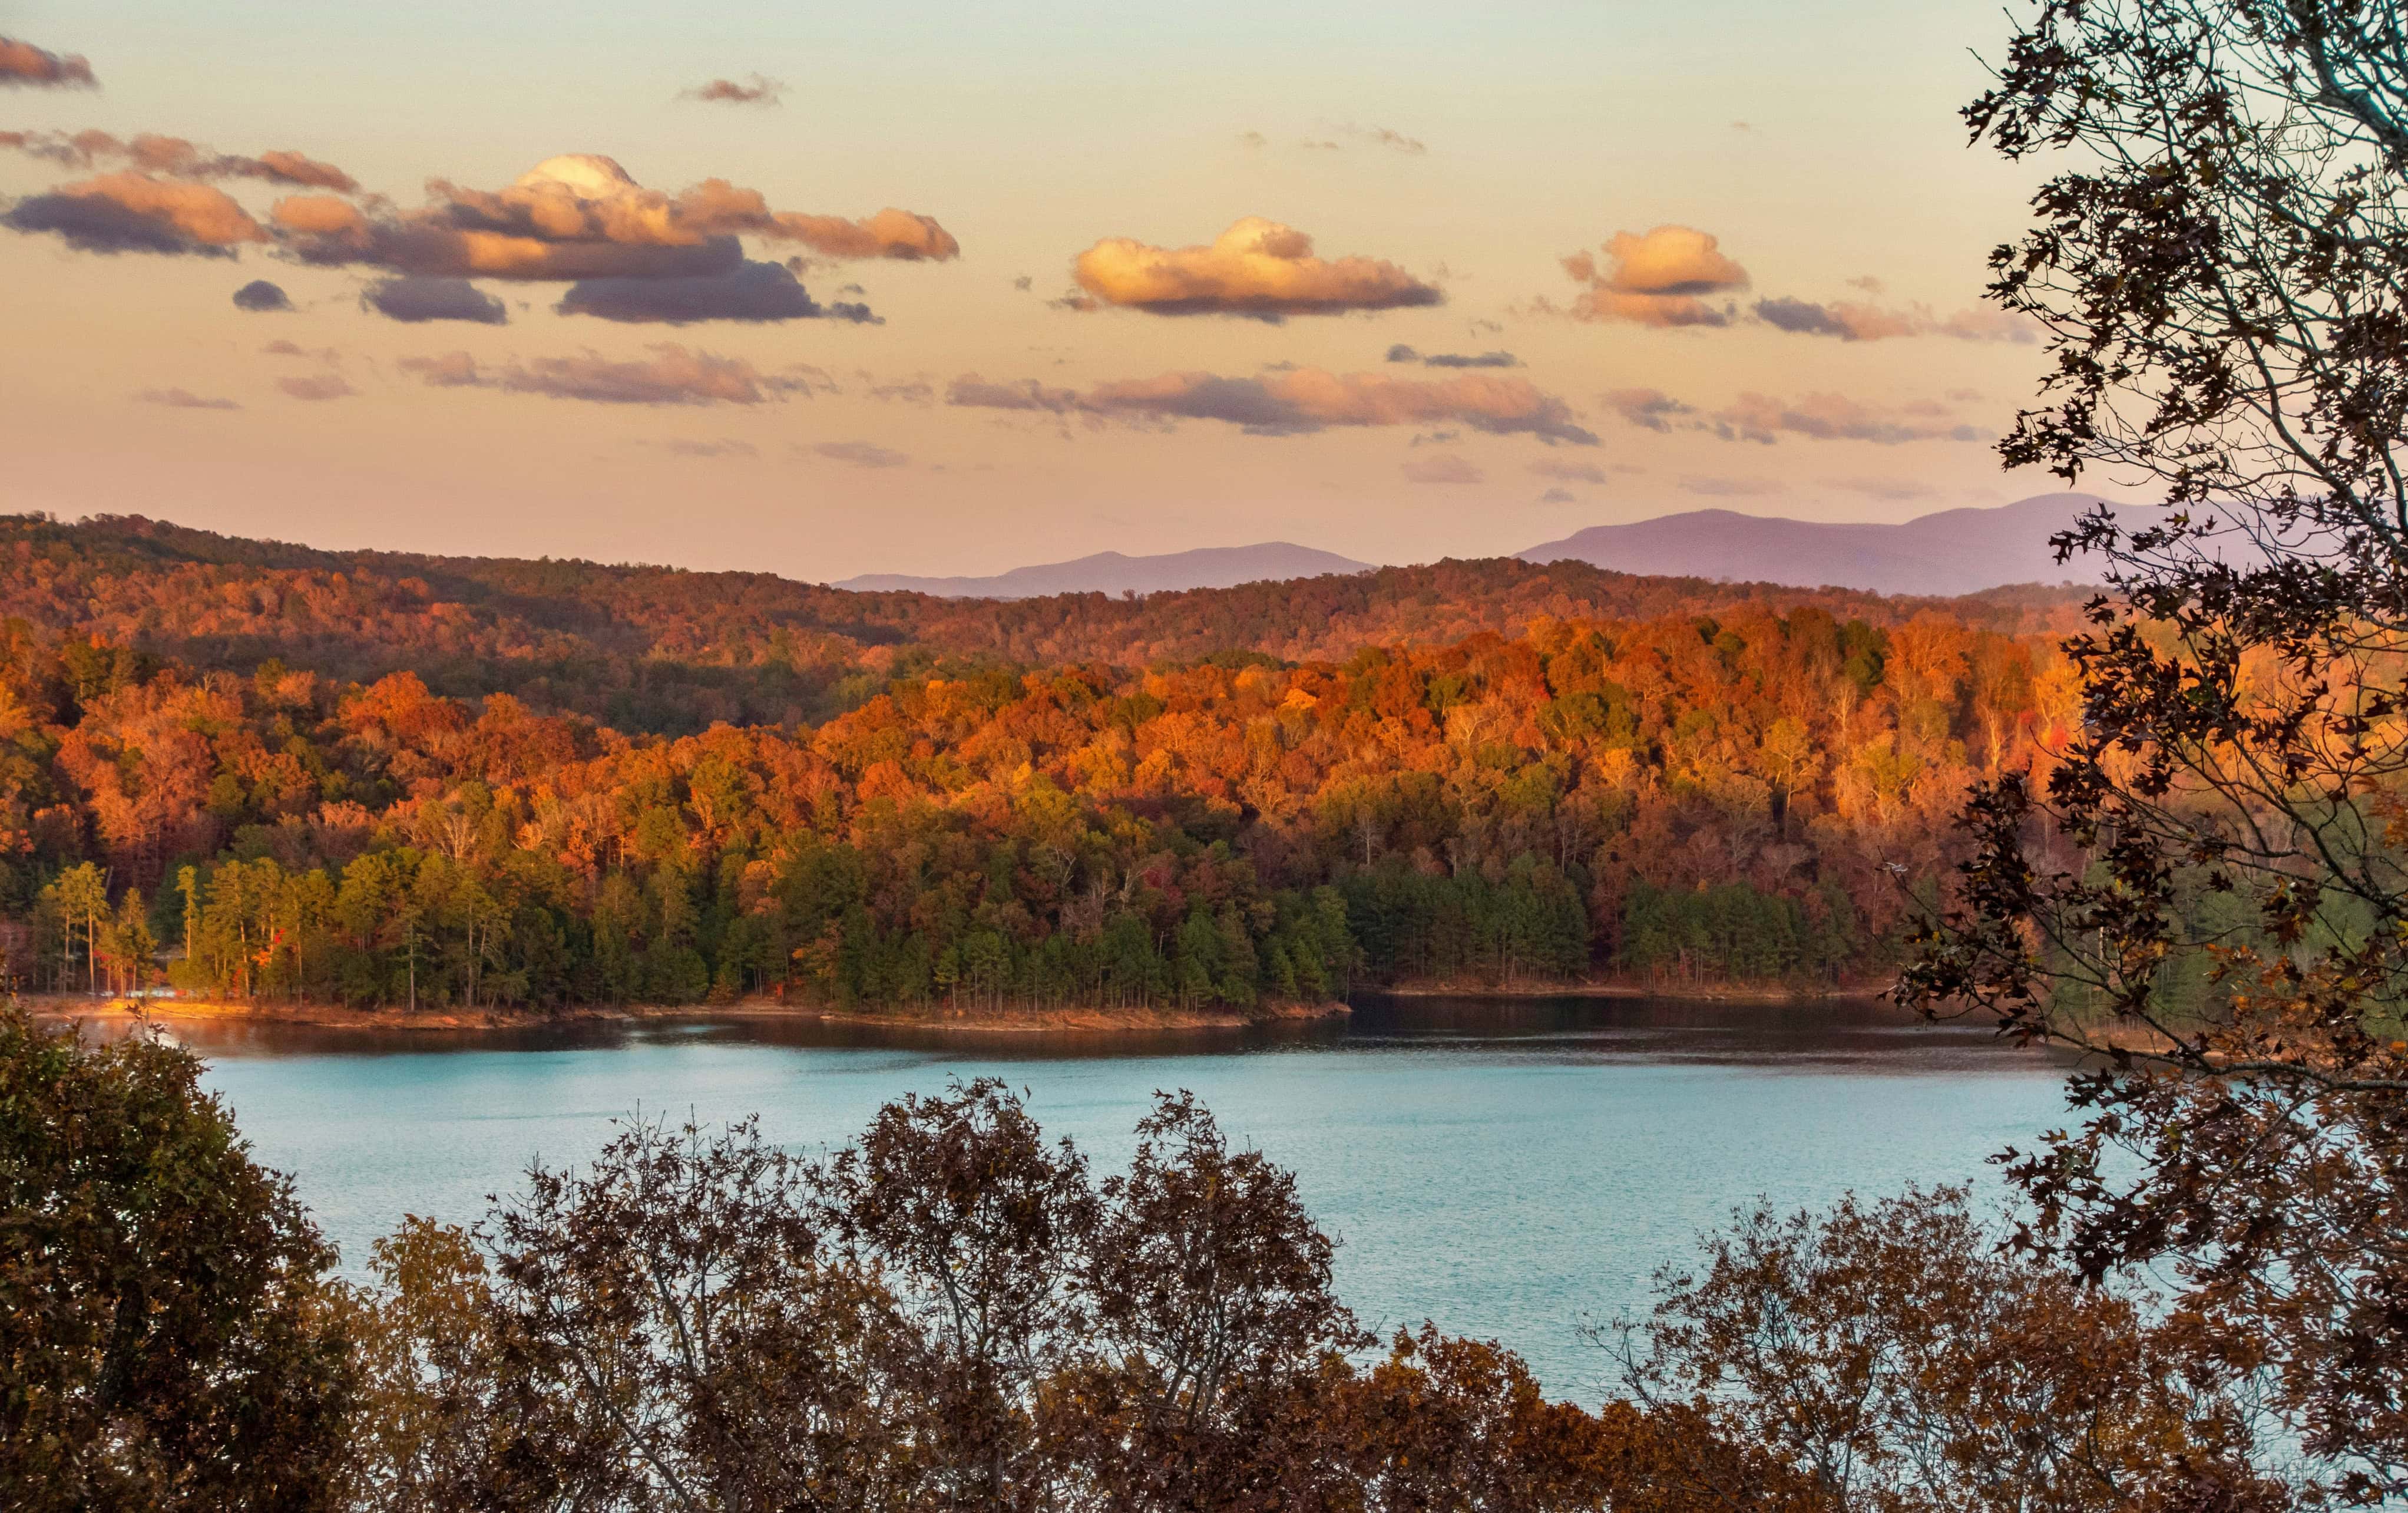
[[[1259,378],[1216,373],[1163,373],[1098,383],[1086,393],[1047,388],[1038,381],[987,383],[978,373],[956,378],[949,405],[985,410],[1035,410],[1100,419],[1216,419],[1257,436],[1303,436],[1327,426],[1423,426],[1459,422],[1495,436],[1536,436],[1597,446],[1597,436],[1572,422],[1572,410],[1527,378],[1459,373],[1454,378],[1389,378],[1387,373],[1329,373],[1291,369]]]

